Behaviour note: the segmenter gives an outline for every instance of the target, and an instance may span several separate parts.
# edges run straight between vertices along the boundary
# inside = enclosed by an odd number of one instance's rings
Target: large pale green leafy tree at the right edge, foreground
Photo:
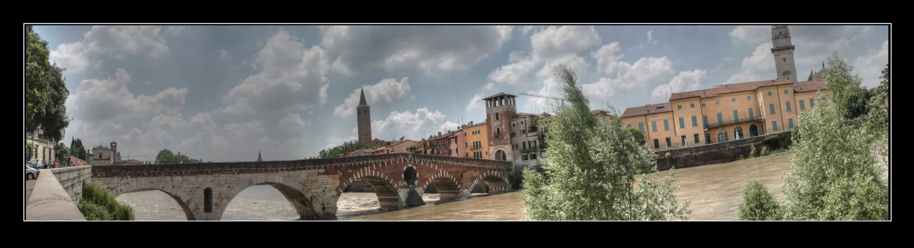
[[[888,220],[888,187],[873,143],[880,132],[846,119],[846,92],[860,83],[837,54],[828,60],[826,84],[834,101],[816,104],[795,126],[793,166],[784,175],[785,219]],[[834,88],[833,88],[834,86]],[[824,146],[823,144],[828,144]]]

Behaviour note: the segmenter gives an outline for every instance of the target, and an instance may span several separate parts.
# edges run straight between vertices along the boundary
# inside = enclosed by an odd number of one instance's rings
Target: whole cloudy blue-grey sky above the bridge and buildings
[[[372,134],[484,121],[498,92],[561,96],[569,64],[617,109],[669,91],[774,79],[771,26],[36,26],[67,68],[66,135],[123,156],[177,150],[211,161],[298,160],[356,140],[358,88]],[[798,74],[838,51],[877,85],[887,26],[791,26]],[[518,111],[543,112],[520,96]],[[65,140],[69,144],[69,139]]]

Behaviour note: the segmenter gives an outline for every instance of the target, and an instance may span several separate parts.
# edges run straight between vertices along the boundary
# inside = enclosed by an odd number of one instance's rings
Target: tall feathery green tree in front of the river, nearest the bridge
[[[615,115],[594,115],[567,65],[553,67],[569,105],[547,123],[547,175],[524,171],[525,218],[568,221],[685,220],[675,171],[657,179],[654,152],[622,131]]]

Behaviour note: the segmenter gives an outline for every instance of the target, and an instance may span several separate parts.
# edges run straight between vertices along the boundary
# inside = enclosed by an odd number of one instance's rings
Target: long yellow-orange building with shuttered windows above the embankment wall
[[[819,95],[817,95],[819,94]],[[655,150],[671,150],[792,130],[800,113],[828,95],[822,80],[786,78],[674,93],[669,102],[625,109]]]

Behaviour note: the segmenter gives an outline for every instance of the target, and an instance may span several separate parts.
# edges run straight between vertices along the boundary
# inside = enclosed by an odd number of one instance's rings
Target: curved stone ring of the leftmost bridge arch
[[[181,206],[181,210],[184,212],[187,221],[197,221],[201,219],[201,216],[194,214],[194,211],[199,209],[197,207],[197,202],[194,202],[193,198],[183,191],[181,187],[175,186],[171,182],[157,181],[154,178],[132,179],[110,189],[109,193],[112,194],[112,197],[117,198],[124,193],[139,191],[163,191],[172,199],[175,199],[175,202]]]

